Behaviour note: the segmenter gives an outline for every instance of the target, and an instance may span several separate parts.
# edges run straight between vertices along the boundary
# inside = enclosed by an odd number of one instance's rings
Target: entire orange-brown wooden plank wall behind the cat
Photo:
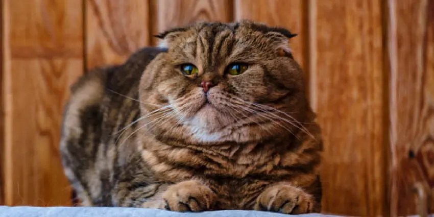
[[[168,28],[253,19],[299,34],[292,50],[325,142],[323,212],[434,212],[415,194],[419,183],[434,196],[434,0],[2,3],[0,204],[69,204],[60,122],[88,68],[122,63]]]

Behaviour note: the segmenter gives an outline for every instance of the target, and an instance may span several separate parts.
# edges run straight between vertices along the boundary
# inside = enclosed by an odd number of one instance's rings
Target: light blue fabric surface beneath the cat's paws
[[[120,207],[31,207],[0,206],[1,217],[285,217],[288,215],[247,210],[220,210],[207,212],[171,212],[159,209],[137,209]],[[304,214],[302,217],[324,217],[321,214]],[[327,215],[331,216],[331,215]]]

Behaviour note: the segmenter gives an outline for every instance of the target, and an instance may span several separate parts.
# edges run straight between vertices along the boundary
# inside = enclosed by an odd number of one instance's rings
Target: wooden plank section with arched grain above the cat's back
[[[148,0],[86,2],[86,67],[123,63],[150,44]]]

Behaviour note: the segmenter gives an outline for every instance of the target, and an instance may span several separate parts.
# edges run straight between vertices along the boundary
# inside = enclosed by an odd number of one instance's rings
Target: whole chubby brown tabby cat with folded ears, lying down
[[[294,36],[198,22],[82,76],[60,141],[82,205],[320,212],[321,131]]]

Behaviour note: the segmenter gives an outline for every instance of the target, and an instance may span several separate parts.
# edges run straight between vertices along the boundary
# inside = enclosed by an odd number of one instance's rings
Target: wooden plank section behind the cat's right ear
[[[269,26],[279,26],[297,33],[292,38],[291,50],[294,58],[306,71],[307,54],[307,2],[302,0],[235,0],[235,20],[249,19],[266,23]],[[308,80],[308,79],[306,79]]]

